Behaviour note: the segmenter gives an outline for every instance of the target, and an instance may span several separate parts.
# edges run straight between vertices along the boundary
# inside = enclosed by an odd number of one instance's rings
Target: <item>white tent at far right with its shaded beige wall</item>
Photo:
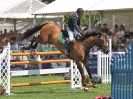
[[[90,11],[103,13],[102,23],[107,23],[110,28],[115,24],[124,24],[126,30],[133,30],[133,0],[103,0],[97,5],[88,8]]]

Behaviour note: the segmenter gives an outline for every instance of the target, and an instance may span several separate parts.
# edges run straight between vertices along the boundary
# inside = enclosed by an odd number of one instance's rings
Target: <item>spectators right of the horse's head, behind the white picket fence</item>
[[[125,29],[123,24],[115,24],[113,29],[109,28],[106,23],[98,24],[95,27],[97,33],[105,36],[107,40],[112,39],[112,51],[121,52],[125,51],[130,41],[133,39],[133,32],[129,32]]]

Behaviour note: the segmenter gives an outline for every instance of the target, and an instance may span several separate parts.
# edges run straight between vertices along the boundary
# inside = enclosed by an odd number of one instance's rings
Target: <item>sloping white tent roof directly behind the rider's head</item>
[[[75,12],[77,8],[87,10],[103,0],[56,0],[33,14],[64,14]]]

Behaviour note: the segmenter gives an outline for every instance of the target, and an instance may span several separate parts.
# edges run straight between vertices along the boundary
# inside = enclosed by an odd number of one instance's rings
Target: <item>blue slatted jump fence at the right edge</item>
[[[133,42],[125,54],[112,58],[112,99],[133,99]]]

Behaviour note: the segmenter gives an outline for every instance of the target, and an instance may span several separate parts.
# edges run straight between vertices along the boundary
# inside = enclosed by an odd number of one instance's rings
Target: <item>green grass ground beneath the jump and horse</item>
[[[61,80],[62,76],[28,76],[13,77],[12,83]],[[0,99],[95,99],[97,95],[110,95],[110,84],[98,84],[89,92],[82,89],[71,89],[70,84],[41,85],[16,87],[11,90],[14,95],[0,96]]]

